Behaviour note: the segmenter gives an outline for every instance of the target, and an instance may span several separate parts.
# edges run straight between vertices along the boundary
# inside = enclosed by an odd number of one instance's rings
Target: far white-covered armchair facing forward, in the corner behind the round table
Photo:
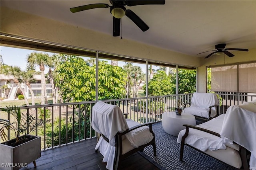
[[[189,107],[186,107],[191,104]],[[218,113],[219,100],[215,93],[194,93],[191,103],[186,103],[183,110],[184,113],[190,113],[196,119],[212,119],[219,115]]]

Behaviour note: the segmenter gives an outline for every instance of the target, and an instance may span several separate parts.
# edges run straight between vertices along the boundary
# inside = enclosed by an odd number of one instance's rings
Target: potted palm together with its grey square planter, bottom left
[[[36,159],[41,157],[41,137],[29,133],[43,125],[44,121],[36,119],[32,114],[21,113],[18,106],[6,106],[2,111],[14,116],[15,121],[0,119],[0,137],[6,140],[4,129],[10,129],[15,133],[15,139],[0,143],[1,169],[18,170],[30,162],[36,167]]]

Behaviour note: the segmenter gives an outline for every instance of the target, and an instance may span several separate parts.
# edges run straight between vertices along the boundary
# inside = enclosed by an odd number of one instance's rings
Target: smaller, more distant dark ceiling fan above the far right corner
[[[228,49],[225,49],[226,47],[226,44],[217,44],[215,45],[215,49],[216,50],[211,50],[211,51],[214,51],[212,53],[210,53],[208,56],[205,57],[205,59],[207,59],[208,57],[210,57],[211,55],[213,55],[214,53],[216,53],[217,55],[218,54],[221,54],[221,53],[224,53],[226,54],[228,57],[234,57],[234,55],[232,53],[230,53],[228,50],[236,50],[236,51],[249,51],[248,49],[236,49],[236,48],[228,48]],[[209,52],[209,51],[204,51],[202,53],[206,53],[206,52]],[[198,54],[202,54],[202,53],[198,53]]]

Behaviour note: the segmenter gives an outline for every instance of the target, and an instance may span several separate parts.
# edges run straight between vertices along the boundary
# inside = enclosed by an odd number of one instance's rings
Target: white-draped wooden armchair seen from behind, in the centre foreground
[[[125,119],[118,106],[97,102],[92,107],[92,128],[101,135],[95,149],[99,149],[103,155],[103,162],[107,162],[106,168],[119,169],[120,160],[148,145],[153,146],[156,156],[152,124]]]

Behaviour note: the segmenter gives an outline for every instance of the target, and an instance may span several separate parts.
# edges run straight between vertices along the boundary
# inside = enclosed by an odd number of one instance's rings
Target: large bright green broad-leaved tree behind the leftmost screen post
[[[96,64],[68,56],[56,67],[55,81],[64,102],[96,100]],[[118,99],[126,94],[126,72],[119,66],[99,61],[98,99]]]

